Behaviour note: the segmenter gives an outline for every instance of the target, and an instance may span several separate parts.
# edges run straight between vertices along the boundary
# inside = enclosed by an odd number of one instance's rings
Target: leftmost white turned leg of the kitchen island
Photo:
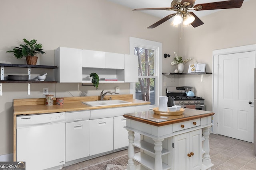
[[[129,146],[128,146],[128,164],[126,166],[126,170],[135,170],[136,169],[136,165],[135,165],[135,162],[133,160],[134,158],[134,146],[133,146],[133,143],[134,143],[134,131],[130,131],[130,130],[127,130],[128,131],[128,139],[129,139]]]

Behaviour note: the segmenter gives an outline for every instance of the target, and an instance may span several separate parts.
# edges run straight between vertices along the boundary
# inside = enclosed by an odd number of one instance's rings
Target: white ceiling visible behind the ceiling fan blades
[[[120,4],[122,6],[126,6],[128,8],[131,8],[131,10],[136,8],[158,8],[158,7],[170,7],[172,0],[108,0],[116,4]],[[196,4],[204,4],[209,2],[220,2],[225,0],[196,0]],[[249,0],[244,0],[244,2]],[[232,9],[224,9],[224,10],[232,10]],[[214,12],[217,12],[219,10],[204,10],[204,11],[195,11],[192,10],[199,18],[202,16],[206,16],[209,14],[212,14]],[[138,11],[134,11],[138,12]],[[152,16],[156,16],[159,18],[164,18],[168,16],[169,14],[174,14],[175,11],[160,11],[160,10],[153,10],[153,11],[143,11],[146,14],[150,14]]]

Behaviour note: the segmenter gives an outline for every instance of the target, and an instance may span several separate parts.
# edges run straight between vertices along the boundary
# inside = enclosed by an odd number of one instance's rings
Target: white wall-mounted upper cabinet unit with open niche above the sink
[[[55,78],[61,83],[92,83],[90,74],[98,74],[100,83],[138,82],[138,56],[58,47]]]

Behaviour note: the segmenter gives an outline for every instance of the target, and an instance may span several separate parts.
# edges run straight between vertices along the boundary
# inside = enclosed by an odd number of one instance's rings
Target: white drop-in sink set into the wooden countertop
[[[120,105],[120,104],[130,104],[132,102],[126,102],[124,100],[97,100],[97,101],[89,101],[82,102],[83,104],[96,107],[96,106],[111,106],[111,105]]]

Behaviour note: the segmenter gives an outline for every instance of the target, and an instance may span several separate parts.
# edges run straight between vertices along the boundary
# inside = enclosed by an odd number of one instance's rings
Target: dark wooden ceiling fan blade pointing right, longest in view
[[[212,2],[206,4],[196,4],[194,8],[202,6],[202,9],[195,9],[196,11],[202,10],[219,10],[219,9],[230,9],[230,8],[240,8],[244,0],[228,0],[222,2]]]

